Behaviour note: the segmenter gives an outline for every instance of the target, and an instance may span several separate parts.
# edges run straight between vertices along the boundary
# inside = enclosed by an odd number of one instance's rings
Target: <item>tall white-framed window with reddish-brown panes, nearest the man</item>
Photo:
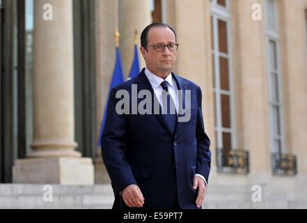
[[[211,0],[212,61],[217,148],[235,148],[228,0]]]

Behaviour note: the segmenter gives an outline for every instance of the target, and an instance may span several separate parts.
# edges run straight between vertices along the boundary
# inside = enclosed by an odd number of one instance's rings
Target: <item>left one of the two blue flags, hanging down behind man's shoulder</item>
[[[109,92],[108,92],[108,99],[107,99],[107,103],[104,109],[104,116],[102,118],[102,124],[101,124],[101,128],[100,128],[100,136],[98,139],[98,145],[101,146],[101,137],[102,137],[102,132],[104,130],[104,123],[106,121],[106,116],[107,116],[107,108],[108,108],[108,103],[109,103],[109,94],[111,89],[113,89],[114,86],[117,86],[118,84],[122,84],[124,82],[124,74],[123,74],[123,67],[122,67],[122,62],[120,60],[120,50],[118,47],[116,47],[116,63],[115,63],[115,67],[113,70],[113,77],[112,77],[112,81],[111,81],[111,85],[109,88]]]

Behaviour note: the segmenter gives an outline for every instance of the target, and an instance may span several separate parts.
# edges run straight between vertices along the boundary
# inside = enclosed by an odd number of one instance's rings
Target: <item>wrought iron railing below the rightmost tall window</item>
[[[297,174],[297,157],[286,153],[272,153],[271,164],[274,175]]]

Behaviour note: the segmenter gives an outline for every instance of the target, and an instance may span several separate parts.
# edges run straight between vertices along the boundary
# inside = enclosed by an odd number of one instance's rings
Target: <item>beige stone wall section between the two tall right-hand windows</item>
[[[253,3],[261,4],[262,1],[231,1],[230,6],[235,131],[237,148],[249,151],[251,174],[263,174],[271,168],[267,55],[265,23],[251,19]]]

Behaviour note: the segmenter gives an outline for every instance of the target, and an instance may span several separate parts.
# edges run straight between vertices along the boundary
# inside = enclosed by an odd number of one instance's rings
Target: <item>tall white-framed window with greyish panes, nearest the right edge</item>
[[[271,152],[284,152],[281,70],[279,67],[278,9],[276,0],[265,1],[267,37],[267,75],[271,124]]]

